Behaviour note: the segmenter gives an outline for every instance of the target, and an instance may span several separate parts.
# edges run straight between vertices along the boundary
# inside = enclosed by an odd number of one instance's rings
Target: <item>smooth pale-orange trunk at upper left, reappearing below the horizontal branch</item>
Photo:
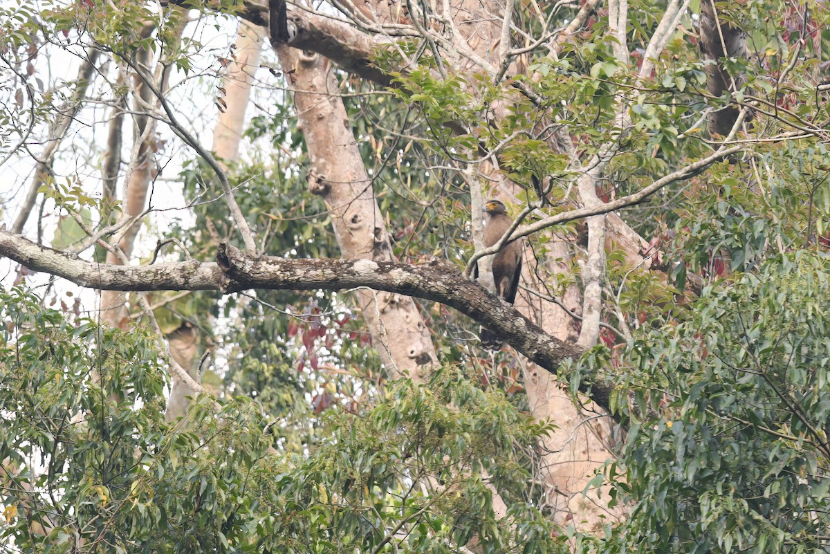
[[[251,98],[251,84],[259,68],[262,44],[266,30],[263,27],[241,21],[234,43],[237,49],[234,59],[227,66],[227,75],[222,88],[223,109],[219,111],[216,127],[213,129],[213,153],[222,169],[239,156],[239,143],[245,129],[245,112]],[[183,323],[167,336],[170,354],[188,372],[194,381],[201,381],[201,375],[194,361],[197,353],[197,333],[188,323]],[[193,391],[187,383],[173,375],[173,387],[167,401],[164,418],[175,421],[188,413]]]

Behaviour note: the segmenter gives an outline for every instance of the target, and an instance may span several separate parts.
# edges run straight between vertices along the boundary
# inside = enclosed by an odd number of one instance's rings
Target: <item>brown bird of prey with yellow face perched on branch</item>
[[[507,215],[507,208],[498,200],[488,200],[484,207],[487,217],[484,224],[484,245],[490,247],[504,236],[513,220]],[[513,304],[519,289],[521,275],[521,241],[513,241],[493,257],[493,280],[496,294]],[[476,267],[476,277],[478,268]],[[489,329],[481,328],[481,345],[497,350],[501,341]]]

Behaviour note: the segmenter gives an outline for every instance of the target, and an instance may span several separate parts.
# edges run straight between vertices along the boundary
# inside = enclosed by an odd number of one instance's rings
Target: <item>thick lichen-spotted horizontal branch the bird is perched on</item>
[[[408,265],[373,260],[286,259],[257,256],[222,243],[217,263],[194,260],[157,265],[108,265],[81,260],[0,230],[0,257],[90,289],[343,290],[366,287],[446,304],[498,333],[533,362],[555,373],[581,352],[545,333],[510,304],[466,279],[444,261]],[[612,386],[583,382],[581,390],[608,410]]]

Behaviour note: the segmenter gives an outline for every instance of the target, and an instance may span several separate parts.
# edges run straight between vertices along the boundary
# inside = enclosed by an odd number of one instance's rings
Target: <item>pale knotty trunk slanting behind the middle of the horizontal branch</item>
[[[386,225],[330,61],[288,46],[275,50],[283,71],[295,70],[291,90],[310,158],[309,190],[330,207],[341,254],[393,260]],[[396,377],[408,373],[417,381],[427,377],[437,355],[413,299],[368,289],[355,291],[354,297],[388,372]]]

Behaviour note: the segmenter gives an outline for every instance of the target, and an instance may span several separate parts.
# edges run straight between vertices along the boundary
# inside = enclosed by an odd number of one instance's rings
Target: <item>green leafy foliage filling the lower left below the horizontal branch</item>
[[[398,381],[332,435],[292,453],[238,398],[164,423],[154,341],[69,320],[2,291],[3,537],[37,552],[556,552],[550,522],[491,489],[530,494],[516,444],[548,431],[457,371]],[[492,478],[487,477],[489,474]],[[33,523],[44,530],[32,532]]]

